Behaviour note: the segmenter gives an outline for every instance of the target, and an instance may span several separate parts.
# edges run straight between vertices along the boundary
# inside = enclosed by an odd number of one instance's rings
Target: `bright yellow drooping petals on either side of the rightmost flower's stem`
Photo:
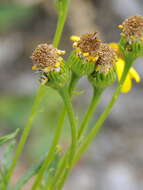
[[[117,71],[117,76],[118,76],[119,80],[122,77],[122,73],[124,71],[124,66],[125,66],[124,60],[119,58],[117,63],[116,63],[116,71]],[[136,82],[140,82],[140,76],[133,67],[131,67],[131,69],[129,70],[129,73],[127,74],[127,77],[126,77],[124,84],[121,88],[122,93],[127,93],[131,90],[132,79],[135,79]]]

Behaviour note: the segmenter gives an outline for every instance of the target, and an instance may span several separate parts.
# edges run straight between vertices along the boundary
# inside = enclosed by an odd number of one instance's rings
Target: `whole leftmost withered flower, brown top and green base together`
[[[53,88],[64,87],[70,80],[70,71],[61,57],[65,51],[53,45],[40,44],[34,50],[31,59],[34,61],[32,70],[40,72],[40,82]]]

